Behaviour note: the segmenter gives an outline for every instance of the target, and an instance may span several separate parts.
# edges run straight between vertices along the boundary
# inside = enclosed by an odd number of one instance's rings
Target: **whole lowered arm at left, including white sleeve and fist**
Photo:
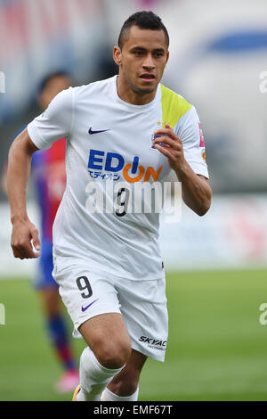
[[[28,219],[26,190],[31,157],[37,150],[46,150],[59,138],[69,138],[73,125],[73,88],[57,94],[48,108],[28,124],[12,143],[7,168],[7,193],[11,206],[12,251],[15,258],[40,256],[36,226]]]

